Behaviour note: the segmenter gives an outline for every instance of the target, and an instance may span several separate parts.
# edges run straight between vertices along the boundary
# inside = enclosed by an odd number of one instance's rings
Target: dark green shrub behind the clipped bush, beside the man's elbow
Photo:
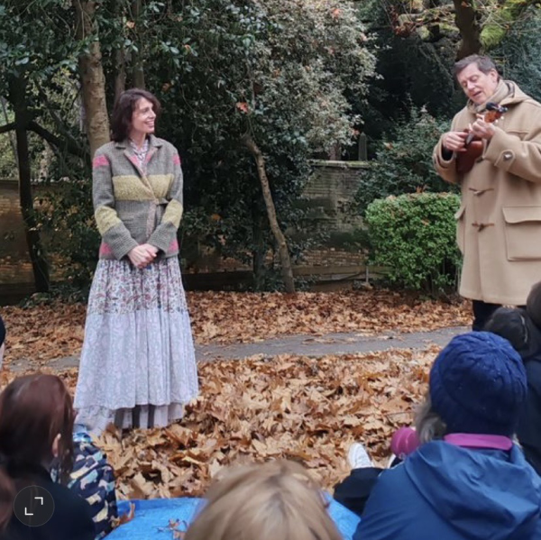
[[[455,189],[439,178],[432,163],[433,148],[448,129],[448,122],[431,116],[423,108],[411,107],[409,113],[396,125],[392,136],[381,142],[371,169],[362,176],[356,196],[362,213],[374,199]]]

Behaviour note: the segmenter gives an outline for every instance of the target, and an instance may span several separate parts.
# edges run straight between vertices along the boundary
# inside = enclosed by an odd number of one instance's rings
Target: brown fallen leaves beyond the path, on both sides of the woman
[[[291,334],[415,332],[471,322],[464,302],[436,302],[388,290],[193,292],[188,293],[188,306],[197,343],[255,343]],[[86,306],[55,301],[30,308],[2,307],[0,313],[8,329],[6,362],[31,359],[42,365],[80,353]]]

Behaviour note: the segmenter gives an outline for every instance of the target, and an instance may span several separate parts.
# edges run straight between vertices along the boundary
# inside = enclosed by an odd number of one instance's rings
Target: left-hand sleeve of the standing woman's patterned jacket
[[[97,230],[115,255],[115,259],[120,261],[139,244],[133,239],[115,210],[111,163],[99,149],[92,162],[92,199]]]

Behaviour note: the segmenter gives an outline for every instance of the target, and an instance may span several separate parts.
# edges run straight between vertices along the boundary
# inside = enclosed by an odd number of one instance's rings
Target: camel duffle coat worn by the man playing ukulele
[[[462,189],[455,215],[463,253],[461,296],[520,306],[541,279],[541,104],[506,82],[511,92],[500,105],[508,112],[472,170],[460,174],[454,157],[444,159],[443,136],[433,160],[438,174]],[[451,131],[475,120],[466,106]]]

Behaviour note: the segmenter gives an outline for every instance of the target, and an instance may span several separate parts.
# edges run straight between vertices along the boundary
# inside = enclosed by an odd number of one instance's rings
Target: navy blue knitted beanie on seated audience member
[[[429,392],[448,433],[510,436],[526,399],[526,371],[506,339],[470,332],[454,337],[438,354]]]

